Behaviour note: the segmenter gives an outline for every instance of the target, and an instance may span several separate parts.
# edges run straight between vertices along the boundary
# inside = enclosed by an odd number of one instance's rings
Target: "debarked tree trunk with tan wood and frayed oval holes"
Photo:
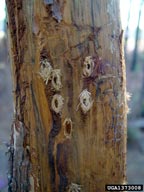
[[[6,0],[15,119],[9,191],[125,183],[119,1]]]

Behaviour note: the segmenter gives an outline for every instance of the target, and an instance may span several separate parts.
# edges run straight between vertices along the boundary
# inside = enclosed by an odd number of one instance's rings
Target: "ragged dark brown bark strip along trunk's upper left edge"
[[[21,84],[21,67],[24,64],[24,52],[26,46],[23,46],[23,37],[26,34],[26,24],[25,24],[25,18],[24,13],[22,11],[23,5],[22,2],[7,0],[6,1],[7,8],[9,11],[9,30],[10,30],[10,36],[12,40],[12,57],[13,57],[13,65],[15,69],[15,93],[16,93],[16,114],[19,116],[19,120],[23,121],[23,106],[25,104],[26,99],[26,93],[25,92],[25,85],[20,86]],[[23,94],[21,96],[21,94]],[[18,108],[20,109],[18,110]]]

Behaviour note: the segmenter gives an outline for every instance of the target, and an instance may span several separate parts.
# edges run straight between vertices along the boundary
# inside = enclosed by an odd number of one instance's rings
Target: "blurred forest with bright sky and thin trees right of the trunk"
[[[125,30],[128,114],[128,183],[144,185],[144,0],[120,0]]]

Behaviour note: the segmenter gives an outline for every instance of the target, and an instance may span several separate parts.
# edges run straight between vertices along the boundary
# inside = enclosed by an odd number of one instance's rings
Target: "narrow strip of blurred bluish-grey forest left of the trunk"
[[[5,1],[0,0],[0,192],[7,192],[8,144],[13,119],[11,68],[6,34]]]

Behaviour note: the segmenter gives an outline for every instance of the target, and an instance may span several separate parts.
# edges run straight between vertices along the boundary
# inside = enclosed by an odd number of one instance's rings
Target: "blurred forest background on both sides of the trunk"
[[[144,0],[119,0],[125,31],[128,114],[127,178],[144,184]],[[12,79],[5,1],[0,0],[0,192],[7,191],[8,145],[13,120]]]

